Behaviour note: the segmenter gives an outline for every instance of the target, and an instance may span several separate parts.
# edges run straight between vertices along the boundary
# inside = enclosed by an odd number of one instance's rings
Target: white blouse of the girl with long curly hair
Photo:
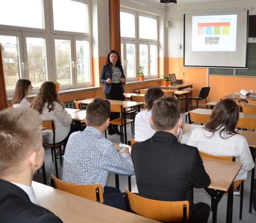
[[[63,107],[59,103],[54,102],[54,105],[55,105],[54,111],[49,112],[48,108],[46,107],[47,103],[45,103],[41,116],[43,121],[54,119],[55,126],[56,126],[55,143],[58,143],[67,137],[70,131],[70,125],[73,120],[71,115],[68,114],[68,112],[65,109],[63,109]],[[52,139],[53,139],[52,130],[48,130],[48,129],[43,130],[42,136],[43,136],[44,143],[52,143]]]

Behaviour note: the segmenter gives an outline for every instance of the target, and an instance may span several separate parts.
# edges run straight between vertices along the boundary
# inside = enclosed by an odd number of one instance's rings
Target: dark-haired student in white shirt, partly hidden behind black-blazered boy
[[[155,126],[152,126],[149,121],[151,116],[151,109],[153,103],[159,97],[164,96],[164,92],[160,87],[150,87],[144,95],[144,104],[146,109],[139,112],[135,116],[134,121],[134,140],[137,142],[144,141],[153,136],[156,132]],[[182,137],[182,127],[180,126],[180,134],[177,136],[178,139]]]

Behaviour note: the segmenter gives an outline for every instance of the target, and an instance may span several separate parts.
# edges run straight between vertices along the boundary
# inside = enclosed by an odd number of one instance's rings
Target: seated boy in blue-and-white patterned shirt
[[[109,126],[110,102],[97,97],[86,107],[85,130],[72,133],[64,154],[64,182],[101,184],[106,205],[126,210],[124,197],[118,188],[105,186],[108,172],[122,176],[134,175],[129,149],[119,154],[113,143],[102,133]]]

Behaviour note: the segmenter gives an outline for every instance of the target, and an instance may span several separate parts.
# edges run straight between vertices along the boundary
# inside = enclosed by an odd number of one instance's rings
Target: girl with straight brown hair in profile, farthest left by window
[[[31,81],[21,78],[17,81],[15,86],[15,92],[12,97],[13,107],[30,107],[30,103],[27,99],[27,94],[32,92]]]

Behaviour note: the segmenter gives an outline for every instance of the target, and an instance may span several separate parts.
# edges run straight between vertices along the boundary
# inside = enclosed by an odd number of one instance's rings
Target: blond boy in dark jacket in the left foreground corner
[[[7,108],[0,120],[0,222],[62,222],[35,204],[31,187],[45,154],[40,115],[32,108]]]

